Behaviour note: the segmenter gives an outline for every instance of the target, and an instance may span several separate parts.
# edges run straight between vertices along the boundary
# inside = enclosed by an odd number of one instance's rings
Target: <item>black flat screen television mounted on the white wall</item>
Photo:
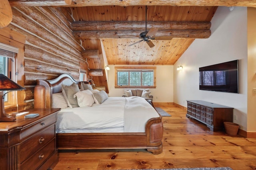
[[[238,60],[199,68],[199,90],[239,93]]]

